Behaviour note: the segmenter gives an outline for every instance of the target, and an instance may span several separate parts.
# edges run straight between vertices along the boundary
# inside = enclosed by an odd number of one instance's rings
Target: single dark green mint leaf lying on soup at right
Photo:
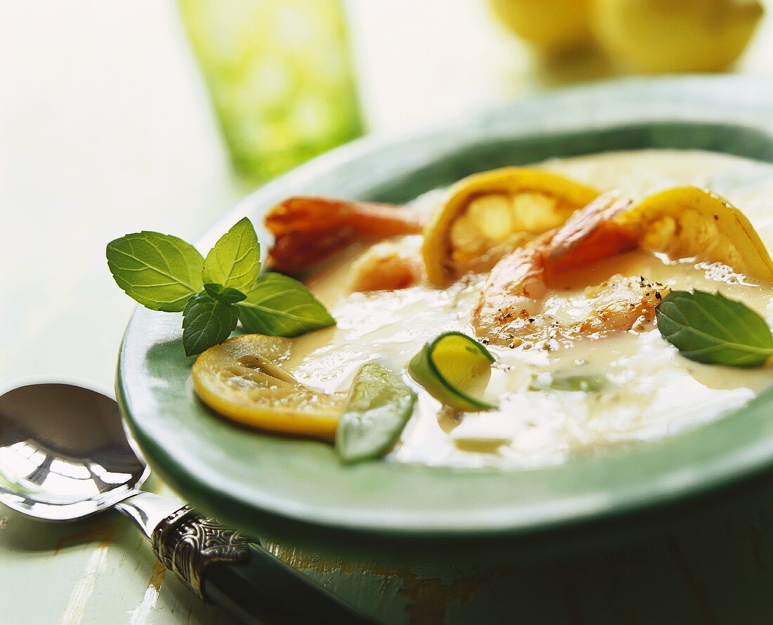
[[[759,367],[773,355],[765,320],[719,293],[672,291],[656,308],[656,317],[663,338],[696,362]]]

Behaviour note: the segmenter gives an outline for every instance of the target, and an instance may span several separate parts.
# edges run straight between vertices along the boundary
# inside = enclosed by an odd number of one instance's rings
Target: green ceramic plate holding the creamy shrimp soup
[[[626,80],[523,100],[459,124],[366,139],[260,189],[237,218],[261,222],[287,195],[404,202],[462,176],[552,156],[703,148],[773,161],[773,87],[741,77]],[[532,531],[683,498],[773,464],[773,393],[659,443],[541,470],[453,470],[374,462],[342,466],[332,448],[225,423],[194,395],[178,315],[138,309],[117,395],[152,467],[206,511],[260,532],[337,528],[368,535]]]

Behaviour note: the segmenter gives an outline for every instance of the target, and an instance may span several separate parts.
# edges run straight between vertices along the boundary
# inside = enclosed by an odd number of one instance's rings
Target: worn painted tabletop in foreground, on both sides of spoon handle
[[[395,566],[376,555],[272,550],[385,623],[762,625],[773,620],[771,477],[679,508],[670,522],[645,516],[646,532],[611,540],[601,525],[583,546],[557,545],[506,566],[421,557]],[[9,625],[56,622],[52,613],[67,609],[81,623],[229,622],[155,569],[148,545],[118,515],[49,525],[2,509],[0,550],[0,598],[12,599],[17,579],[44,588],[39,601],[10,604],[2,620]]]

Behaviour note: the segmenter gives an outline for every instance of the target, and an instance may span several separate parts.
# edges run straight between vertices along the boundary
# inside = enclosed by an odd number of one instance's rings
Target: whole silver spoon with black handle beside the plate
[[[189,589],[257,623],[372,623],[252,540],[189,506],[140,491],[150,469],[131,448],[117,403],[64,382],[0,393],[0,503],[32,518],[76,521],[114,508],[135,522]]]

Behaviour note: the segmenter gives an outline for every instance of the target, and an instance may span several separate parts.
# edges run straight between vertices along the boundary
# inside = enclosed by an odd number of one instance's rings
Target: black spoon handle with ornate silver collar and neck
[[[179,508],[172,500],[140,493],[116,508],[148,535],[155,555],[185,586],[244,622],[375,622],[258,542],[204,518],[190,506]]]

